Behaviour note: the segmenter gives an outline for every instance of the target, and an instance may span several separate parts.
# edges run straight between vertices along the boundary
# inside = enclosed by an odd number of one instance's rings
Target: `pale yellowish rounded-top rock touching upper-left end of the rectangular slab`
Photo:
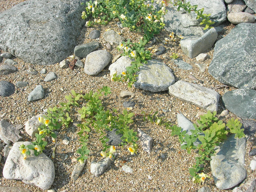
[[[158,60],[148,60],[148,64],[141,66],[134,87],[145,91],[166,91],[175,83],[172,70]]]

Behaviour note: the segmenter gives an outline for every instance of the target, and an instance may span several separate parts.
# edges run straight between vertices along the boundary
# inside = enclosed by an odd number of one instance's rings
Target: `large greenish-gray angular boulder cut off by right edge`
[[[237,88],[256,89],[255,31],[256,24],[240,23],[217,41],[208,68],[215,79]]]

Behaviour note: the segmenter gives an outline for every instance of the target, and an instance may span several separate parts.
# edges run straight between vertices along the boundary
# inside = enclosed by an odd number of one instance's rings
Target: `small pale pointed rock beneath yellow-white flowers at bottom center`
[[[104,158],[103,160],[96,162],[95,160],[91,163],[91,173],[94,174],[95,177],[99,177],[102,175],[106,169],[109,167],[109,165],[114,162],[115,158],[117,156],[117,153],[115,153],[115,156],[112,156],[110,159],[109,157]]]

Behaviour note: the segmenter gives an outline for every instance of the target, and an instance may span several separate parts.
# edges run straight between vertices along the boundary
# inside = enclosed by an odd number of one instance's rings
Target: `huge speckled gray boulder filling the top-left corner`
[[[38,65],[60,62],[76,46],[85,20],[79,0],[31,0],[0,13],[0,49]]]

